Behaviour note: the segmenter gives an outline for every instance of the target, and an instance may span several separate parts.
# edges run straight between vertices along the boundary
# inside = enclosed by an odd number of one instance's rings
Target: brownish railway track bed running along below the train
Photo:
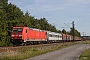
[[[72,42],[64,42],[65,44],[69,44]],[[10,46],[10,47],[0,47],[0,53],[3,52],[11,52],[11,51],[18,51],[23,49],[24,47],[28,48],[49,48],[54,45],[62,45],[63,43],[51,43],[51,44],[38,44],[38,45],[28,45],[28,46]]]

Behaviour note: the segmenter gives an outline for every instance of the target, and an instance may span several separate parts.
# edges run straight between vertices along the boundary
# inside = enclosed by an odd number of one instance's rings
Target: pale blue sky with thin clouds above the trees
[[[58,30],[70,31],[72,21],[81,35],[90,36],[90,0],[8,0],[24,13],[46,20]],[[62,28],[63,27],[63,28]]]

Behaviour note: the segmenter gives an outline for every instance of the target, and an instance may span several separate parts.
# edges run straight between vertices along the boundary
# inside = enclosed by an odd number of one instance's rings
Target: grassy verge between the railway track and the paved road
[[[35,57],[41,54],[45,54],[51,51],[55,51],[58,49],[62,49],[68,46],[72,46],[79,43],[85,43],[85,42],[73,42],[73,43],[62,43],[60,45],[54,45],[50,46],[48,48],[30,48],[30,47],[23,47],[19,51],[11,51],[7,54],[3,54],[2,58],[0,60],[24,60],[27,58]]]

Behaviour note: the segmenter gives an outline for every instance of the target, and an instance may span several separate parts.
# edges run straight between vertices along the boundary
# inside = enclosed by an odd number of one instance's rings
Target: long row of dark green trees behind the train
[[[65,29],[62,31],[57,30],[54,25],[48,23],[46,18],[37,19],[31,16],[28,11],[24,13],[16,5],[8,3],[8,0],[0,0],[0,46],[12,45],[10,34],[13,26],[28,26],[30,28],[72,35],[72,29],[70,32],[66,32]],[[77,36],[80,36],[77,30],[75,30],[75,33]]]

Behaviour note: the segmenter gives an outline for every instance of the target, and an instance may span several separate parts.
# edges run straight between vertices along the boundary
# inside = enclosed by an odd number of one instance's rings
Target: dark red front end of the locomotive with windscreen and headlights
[[[11,42],[13,44],[22,43],[22,27],[13,27],[11,33]]]

